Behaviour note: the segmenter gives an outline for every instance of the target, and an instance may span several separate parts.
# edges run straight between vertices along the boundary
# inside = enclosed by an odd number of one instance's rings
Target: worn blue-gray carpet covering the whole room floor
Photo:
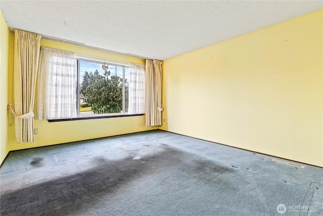
[[[1,215],[323,215],[323,169],[163,131],[11,152]]]

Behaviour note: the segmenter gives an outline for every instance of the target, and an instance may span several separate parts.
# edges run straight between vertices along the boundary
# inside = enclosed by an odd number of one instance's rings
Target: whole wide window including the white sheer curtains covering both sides
[[[145,65],[75,58],[73,52],[45,47],[40,54],[36,119],[52,122],[145,112]]]

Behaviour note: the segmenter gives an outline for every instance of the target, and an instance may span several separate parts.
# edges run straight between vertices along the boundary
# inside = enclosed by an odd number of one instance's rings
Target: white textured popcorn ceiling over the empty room
[[[323,8],[323,1],[0,1],[10,28],[165,60]]]

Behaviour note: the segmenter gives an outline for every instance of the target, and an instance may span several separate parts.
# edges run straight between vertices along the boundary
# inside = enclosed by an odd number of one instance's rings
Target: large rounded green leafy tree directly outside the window
[[[94,114],[118,113],[122,111],[122,78],[105,73],[93,74],[93,82],[86,90],[87,102]]]

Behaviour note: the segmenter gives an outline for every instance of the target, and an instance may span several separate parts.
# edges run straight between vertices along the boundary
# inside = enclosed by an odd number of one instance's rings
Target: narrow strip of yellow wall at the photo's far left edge
[[[8,74],[9,74],[9,28],[0,11],[0,164],[9,152],[8,146]]]

